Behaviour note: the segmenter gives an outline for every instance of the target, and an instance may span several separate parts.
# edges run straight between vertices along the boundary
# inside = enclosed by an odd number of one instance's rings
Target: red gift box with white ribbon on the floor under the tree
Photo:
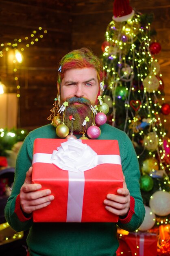
[[[129,233],[121,238],[131,249],[132,255],[157,256],[157,235],[148,232]]]

